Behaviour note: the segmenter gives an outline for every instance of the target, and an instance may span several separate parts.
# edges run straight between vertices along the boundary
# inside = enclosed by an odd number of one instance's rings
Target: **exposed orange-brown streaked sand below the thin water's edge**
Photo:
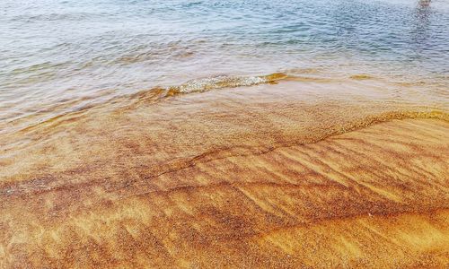
[[[150,178],[3,188],[0,265],[445,267],[447,134],[393,120]]]

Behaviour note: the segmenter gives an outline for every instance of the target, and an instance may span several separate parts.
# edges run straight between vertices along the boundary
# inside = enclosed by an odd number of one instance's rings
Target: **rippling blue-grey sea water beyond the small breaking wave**
[[[447,93],[449,0],[3,0],[0,66],[6,122],[217,75],[369,74]]]

